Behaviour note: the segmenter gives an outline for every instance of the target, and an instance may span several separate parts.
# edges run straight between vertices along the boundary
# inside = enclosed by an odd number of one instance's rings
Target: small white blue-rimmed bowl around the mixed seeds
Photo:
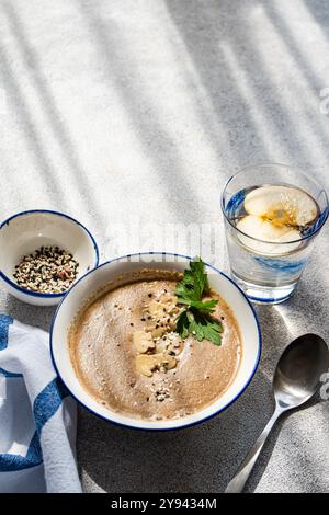
[[[35,306],[54,306],[63,294],[38,294],[19,286],[13,277],[15,265],[25,254],[43,245],[58,245],[73,254],[79,263],[78,281],[99,264],[99,249],[78,220],[64,213],[46,209],[22,211],[0,226],[0,282],[14,297]]]

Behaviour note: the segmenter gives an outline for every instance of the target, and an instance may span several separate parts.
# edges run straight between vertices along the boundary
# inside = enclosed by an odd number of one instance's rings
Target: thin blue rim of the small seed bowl
[[[56,215],[56,216],[59,216],[59,217],[64,217],[64,218],[67,218],[68,220],[71,220],[73,221],[75,224],[77,224],[78,226],[80,226],[86,232],[87,234],[89,236],[90,240],[92,241],[92,244],[93,244],[93,249],[94,249],[94,252],[95,252],[95,261],[94,261],[94,266],[92,270],[94,270],[98,265],[99,265],[99,261],[100,261],[100,252],[99,252],[99,248],[98,248],[98,244],[95,242],[95,239],[93,238],[92,233],[87,229],[87,227],[83,226],[83,224],[81,224],[80,221],[78,221],[76,218],[72,218],[71,216],[69,215],[66,215],[65,213],[60,213],[60,211],[55,211],[55,210],[52,210],[52,209],[30,209],[27,211],[21,211],[21,213],[16,213],[15,215],[12,215],[11,217],[7,218],[4,221],[2,221],[0,224],[0,230],[2,229],[3,226],[7,226],[9,225],[9,222],[11,220],[13,220],[14,218],[18,218],[19,216],[23,216],[23,215],[30,215],[32,213],[48,213],[50,215]],[[65,297],[67,291],[63,291],[63,294],[38,294],[36,291],[30,291],[29,289],[24,289],[24,288],[21,288],[16,283],[14,283],[13,281],[11,281],[1,270],[0,270],[0,277],[5,282],[8,283],[10,286],[12,286],[14,289],[16,289],[18,291],[21,291],[22,294],[25,294],[25,295],[30,295],[31,297],[37,297],[37,298],[60,298],[60,297]]]

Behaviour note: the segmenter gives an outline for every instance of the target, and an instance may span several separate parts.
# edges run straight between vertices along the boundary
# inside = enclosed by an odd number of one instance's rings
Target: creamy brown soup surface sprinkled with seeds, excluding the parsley
[[[102,405],[144,420],[178,419],[218,399],[241,359],[239,329],[215,291],[213,317],[223,324],[222,345],[174,332],[183,309],[174,289],[181,274],[140,271],[109,284],[77,316],[68,335],[83,388]],[[122,281],[122,279],[121,279]]]

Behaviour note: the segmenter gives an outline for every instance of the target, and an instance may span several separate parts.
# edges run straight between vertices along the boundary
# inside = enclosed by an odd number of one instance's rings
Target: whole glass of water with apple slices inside
[[[328,218],[328,197],[311,178],[283,164],[248,167],[222,195],[231,275],[250,300],[292,296]]]

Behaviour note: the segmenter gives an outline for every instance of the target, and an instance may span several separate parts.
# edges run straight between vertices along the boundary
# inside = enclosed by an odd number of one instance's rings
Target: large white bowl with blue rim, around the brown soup
[[[259,365],[261,333],[254,310],[242,290],[223,272],[206,264],[209,284],[232,309],[242,339],[242,356],[238,373],[225,393],[197,413],[178,420],[137,420],[98,403],[81,386],[69,355],[68,331],[79,309],[105,283],[122,274],[141,268],[164,268],[183,272],[191,258],[164,252],[144,252],[122,256],[101,264],[78,281],[63,299],[54,316],[50,330],[50,352],[54,366],[71,394],[88,410],[106,421],[139,430],[177,430],[205,421],[232,404],[246,390]],[[193,378],[191,378],[193,380]]]

